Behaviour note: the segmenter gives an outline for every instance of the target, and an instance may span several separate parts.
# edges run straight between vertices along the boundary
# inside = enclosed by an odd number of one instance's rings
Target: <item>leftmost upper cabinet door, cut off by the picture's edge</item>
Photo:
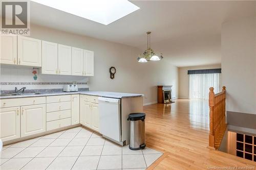
[[[0,63],[17,64],[17,36],[0,36]]]

